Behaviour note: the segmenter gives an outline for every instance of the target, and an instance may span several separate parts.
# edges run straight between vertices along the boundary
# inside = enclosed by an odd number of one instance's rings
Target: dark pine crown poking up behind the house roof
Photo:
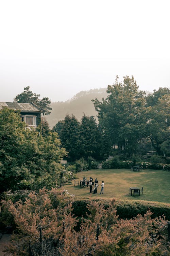
[[[52,110],[50,108],[51,100],[47,97],[43,99],[39,99],[40,94],[35,94],[32,91],[30,91],[30,86],[24,87],[24,91],[17,96],[15,96],[14,101],[15,102],[22,102],[22,103],[35,103],[41,110],[44,111],[45,115],[49,115],[51,112],[49,110]]]

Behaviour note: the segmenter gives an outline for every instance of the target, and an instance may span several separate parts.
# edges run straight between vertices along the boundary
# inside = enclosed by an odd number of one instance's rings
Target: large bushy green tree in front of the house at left
[[[66,155],[55,132],[38,136],[25,129],[19,113],[0,111],[0,190],[51,188],[58,184]]]

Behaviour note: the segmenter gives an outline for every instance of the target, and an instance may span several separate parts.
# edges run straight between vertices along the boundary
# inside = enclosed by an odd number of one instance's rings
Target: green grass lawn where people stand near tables
[[[80,196],[82,198],[89,198],[89,187],[81,188],[80,180],[83,177],[90,176],[99,181],[97,194],[91,194],[91,199],[97,198],[120,198],[129,200],[145,200],[170,203],[170,172],[163,170],[142,170],[140,172],[133,172],[130,169],[98,169],[89,170],[77,173],[79,177],[79,186],[72,184],[65,185],[68,193]],[[77,180],[77,181],[78,181]],[[104,181],[104,194],[100,195],[101,183]],[[143,186],[143,195],[131,196],[129,194],[129,187]]]

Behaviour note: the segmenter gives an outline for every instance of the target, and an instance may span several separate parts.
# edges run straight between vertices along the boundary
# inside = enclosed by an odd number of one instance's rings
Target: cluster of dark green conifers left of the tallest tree
[[[94,116],[83,115],[81,122],[72,115],[66,115],[59,121],[53,131],[58,132],[62,146],[66,148],[70,160],[80,157],[100,157],[100,137]]]

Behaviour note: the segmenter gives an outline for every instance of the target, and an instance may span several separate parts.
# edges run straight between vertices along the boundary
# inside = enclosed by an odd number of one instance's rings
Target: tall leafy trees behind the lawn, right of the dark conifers
[[[169,151],[170,90],[159,88],[153,95],[139,91],[134,77],[124,76],[123,83],[108,85],[108,96],[93,100],[99,125],[109,134],[112,145],[124,153],[135,153],[138,143],[149,138],[158,154]]]

